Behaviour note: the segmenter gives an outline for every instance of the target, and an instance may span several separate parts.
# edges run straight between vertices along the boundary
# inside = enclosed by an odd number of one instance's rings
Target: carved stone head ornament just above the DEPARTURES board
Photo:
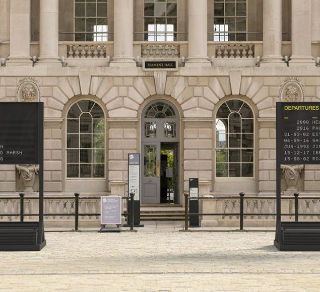
[[[302,102],[304,101],[304,91],[300,80],[297,77],[288,77],[280,89],[280,101],[282,102]]]

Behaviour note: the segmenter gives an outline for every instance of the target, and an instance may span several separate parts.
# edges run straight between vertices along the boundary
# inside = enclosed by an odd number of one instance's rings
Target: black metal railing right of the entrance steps
[[[244,222],[244,216],[276,216],[276,212],[273,213],[245,213],[243,209],[244,200],[263,200],[263,199],[275,199],[274,196],[248,196],[245,197],[245,194],[243,192],[239,193],[239,197],[236,196],[211,196],[211,197],[198,197],[198,200],[212,200],[212,199],[233,199],[233,200],[239,200],[240,204],[240,212],[233,212],[233,213],[190,213],[189,212],[189,200],[192,200],[193,198],[189,197],[188,193],[184,194],[184,222],[185,227],[184,230],[189,230],[189,217],[191,215],[198,215],[198,216],[239,216],[239,230],[243,230],[243,222]],[[284,200],[293,200],[294,199],[294,213],[281,213],[282,216],[294,216],[294,221],[299,221],[299,216],[320,216],[320,213],[299,213],[298,210],[298,204],[299,204],[299,193],[294,193],[294,196],[282,196],[281,199]],[[310,196],[303,196],[301,199],[304,200],[320,200],[320,197],[310,197]]]

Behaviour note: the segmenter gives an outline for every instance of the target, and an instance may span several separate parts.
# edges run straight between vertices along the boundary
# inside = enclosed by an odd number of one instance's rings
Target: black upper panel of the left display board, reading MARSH
[[[43,103],[0,102],[0,164],[39,164]]]

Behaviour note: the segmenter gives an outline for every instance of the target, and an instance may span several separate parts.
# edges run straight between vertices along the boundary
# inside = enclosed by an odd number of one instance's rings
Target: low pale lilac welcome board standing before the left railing
[[[121,224],[121,197],[101,197],[101,225]]]

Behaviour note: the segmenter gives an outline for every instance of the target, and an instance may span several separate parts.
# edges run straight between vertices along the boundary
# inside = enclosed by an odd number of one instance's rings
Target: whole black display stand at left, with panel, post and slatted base
[[[39,251],[43,226],[43,103],[0,103],[0,164],[39,164],[39,222],[0,222],[0,251]]]

